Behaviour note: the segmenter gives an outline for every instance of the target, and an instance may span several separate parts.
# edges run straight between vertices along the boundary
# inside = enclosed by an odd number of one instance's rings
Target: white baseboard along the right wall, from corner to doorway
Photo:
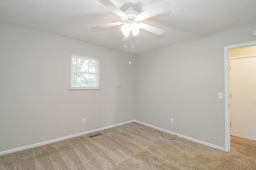
[[[141,121],[137,121],[137,120],[134,120],[134,121],[137,122],[137,123],[140,123],[140,124],[142,124],[142,125],[146,125],[146,126],[148,126],[148,127],[152,127],[152,128],[154,128],[154,129],[158,129],[158,130],[160,130],[160,131],[163,131],[163,132],[166,132],[166,133],[170,133],[170,134],[172,134],[172,135],[176,134],[178,137],[182,137],[182,138],[184,138],[184,139],[188,139],[188,140],[190,140],[190,141],[194,141],[194,142],[196,142],[196,143],[200,143],[200,144],[206,145],[206,146],[208,146],[208,147],[212,147],[212,148],[219,149],[219,150],[223,150],[223,151],[225,150],[225,148],[219,147],[219,146],[217,146],[217,145],[213,145],[213,144],[210,144],[210,143],[207,143],[207,142],[204,142],[204,141],[200,141],[200,140],[197,140],[197,139],[194,139],[194,138],[191,138],[191,137],[187,137],[187,136],[184,136],[184,135],[180,135],[180,134],[178,134],[178,133],[174,133],[174,132],[172,132],[172,131],[168,131],[168,130],[162,129],[162,128],[160,128],[160,127],[152,126],[152,125],[149,125],[149,124],[147,124],[147,123],[143,123],[143,122],[141,122]]]

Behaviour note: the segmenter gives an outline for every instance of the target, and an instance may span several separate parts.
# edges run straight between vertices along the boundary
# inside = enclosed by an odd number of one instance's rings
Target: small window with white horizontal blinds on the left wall
[[[100,59],[71,54],[71,89],[99,89]]]

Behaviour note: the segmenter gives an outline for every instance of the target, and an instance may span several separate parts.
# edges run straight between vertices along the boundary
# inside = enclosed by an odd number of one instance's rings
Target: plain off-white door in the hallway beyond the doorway
[[[231,135],[256,141],[256,57],[230,65]]]

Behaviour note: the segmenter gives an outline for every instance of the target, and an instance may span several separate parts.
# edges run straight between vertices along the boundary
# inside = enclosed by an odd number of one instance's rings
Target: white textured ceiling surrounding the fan
[[[120,25],[90,29],[90,26],[120,21],[119,16],[98,0],[0,0],[0,21],[134,54],[256,23],[256,0],[168,1],[172,3],[172,10],[142,21],[164,29],[164,35],[140,29],[138,35],[126,42],[122,42]],[[163,1],[111,2],[122,11],[133,7],[140,13]]]

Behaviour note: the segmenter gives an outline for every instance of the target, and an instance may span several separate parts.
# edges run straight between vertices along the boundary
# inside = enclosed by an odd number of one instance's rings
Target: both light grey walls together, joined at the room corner
[[[134,58],[0,23],[0,152],[134,118],[224,147],[223,47],[255,41],[254,29],[255,23]],[[68,90],[71,53],[100,58],[102,90]],[[122,90],[113,89],[113,72],[122,75]]]

